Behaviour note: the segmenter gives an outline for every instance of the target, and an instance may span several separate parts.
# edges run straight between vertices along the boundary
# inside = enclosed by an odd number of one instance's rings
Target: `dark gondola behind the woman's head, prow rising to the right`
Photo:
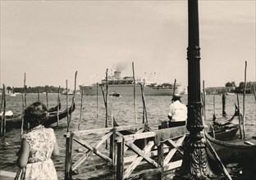
[[[75,102],[68,108],[68,110],[60,111],[58,116],[59,120],[65,118],[67,116],[67,111],[69,115],[75,110]],[[48,119],[44,122],[44,126],[48,127],[51,124],[57,123],[57,112],[49,113]],[[6,121],[6,129],[7,131],[13,128],[21,128],[21,118],[16,119],[7,119]],[[27,128],[26,123],[24,124],[24,128]]]

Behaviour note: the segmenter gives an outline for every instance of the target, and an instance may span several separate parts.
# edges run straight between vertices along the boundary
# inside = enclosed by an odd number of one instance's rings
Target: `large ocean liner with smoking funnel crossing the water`
[[[133,77],[126,76],[121,77],[121,71],[114,71],[114,74],[102,79],[101,83],[93,83],[91,85],[80,85],[80,92],[84,95],[96,96],[102,95],[102,89],[106,92],[116,92],[121,96],[133,96],[134,95],[134,79]],[[174,84],[173,83],[149,83],[145,79],[135,79],[135,95],[141,96],[141,86],[144,89],[145,96],[172,96]],[[175,84],[176,91],[181,92],[181,84]],[[176,92],[175,91],[175,92]]]

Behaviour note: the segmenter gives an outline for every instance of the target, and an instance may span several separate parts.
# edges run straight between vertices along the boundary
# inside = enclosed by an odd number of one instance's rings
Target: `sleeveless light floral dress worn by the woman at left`
[[[30,155],[25,168],[19,169],[15,179],[57,179],[57,172],[51,159],[56,137],[53,128],[39,125],[22,138],[30,145]]]

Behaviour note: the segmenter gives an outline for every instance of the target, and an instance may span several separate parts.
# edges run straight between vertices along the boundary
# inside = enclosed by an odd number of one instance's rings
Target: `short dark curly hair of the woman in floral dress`
[[[31,125],[37,126],[43,124],[48,119],[48,111],[43,103],[36,101],[25,108],[23,117]]]

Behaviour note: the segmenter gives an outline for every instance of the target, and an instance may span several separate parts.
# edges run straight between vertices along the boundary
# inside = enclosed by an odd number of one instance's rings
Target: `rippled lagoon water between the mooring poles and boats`
[[[46,104],[46,95],[40,94],[40,101]],[[37,101],[37,94],[27,95],[27,105]],[[68,97],[68,105],[71,105],[72,96]],[[97,101],[98,99],[98,101]],[[181,99],[187,104],[187,95]],[[240,95],[240,112],[243,113],[243,97]],[[108,102],[112,103],[115,119],[120,125],[135,124],[135,107],[133,97],[108,97]],[[214,106],[213,106],[213,101]],[[66,108],[66,96],[61,95],[62,110]],[[170,105],[171,97],[162,96],[145,97],[145,106],[147,110],[147,117],[150,128],[153,130],[158,129],[158,125],[162,120],[167,120],[168,106]],[[226,119],[231,118],[235,112],[235,103],[237,104],[236,96],[226,96]],[[83,97],[81,109],[81,96],[75,95],[75,111],[71,115],[71,131],[77,130],[79,121],[80,129],[104,128],[105,126],[105,108],[103,97]],[[57,106],[57,94],[48,94],[48,107]],[[136,111],[138,124],[142,123],[142,98],[136,97]],[[215,108],[215,110],[213,110]],[[21,114],[22,111],[22,97],[7,96],[7,109],[12,110],[14,114]],[[217,118],[222,118],[222,96],[221,95],[206,95],[206,118],[212,120],[213,111]],[[245,96],[245,133],[247,137],[255,136],[256,132],[256,103],[253,95]],[[223,118],[222,118],[223,119]],[[64,178],[65,169],[65,142],[63,137],[66,133],[66,118],[61,119],[59,127],[56,124],[52,125],[56,136],[57,142],[60,146],[60,155],[53,160],[57,169],[58,177]],[[0,169],[11,172],[16,172],[16,151],[19,150],[21,144],[21,129],[12,129],[7,131],[6,137],[2,138],[0,142]],[[91,139],[91,141],[95,141]]]

